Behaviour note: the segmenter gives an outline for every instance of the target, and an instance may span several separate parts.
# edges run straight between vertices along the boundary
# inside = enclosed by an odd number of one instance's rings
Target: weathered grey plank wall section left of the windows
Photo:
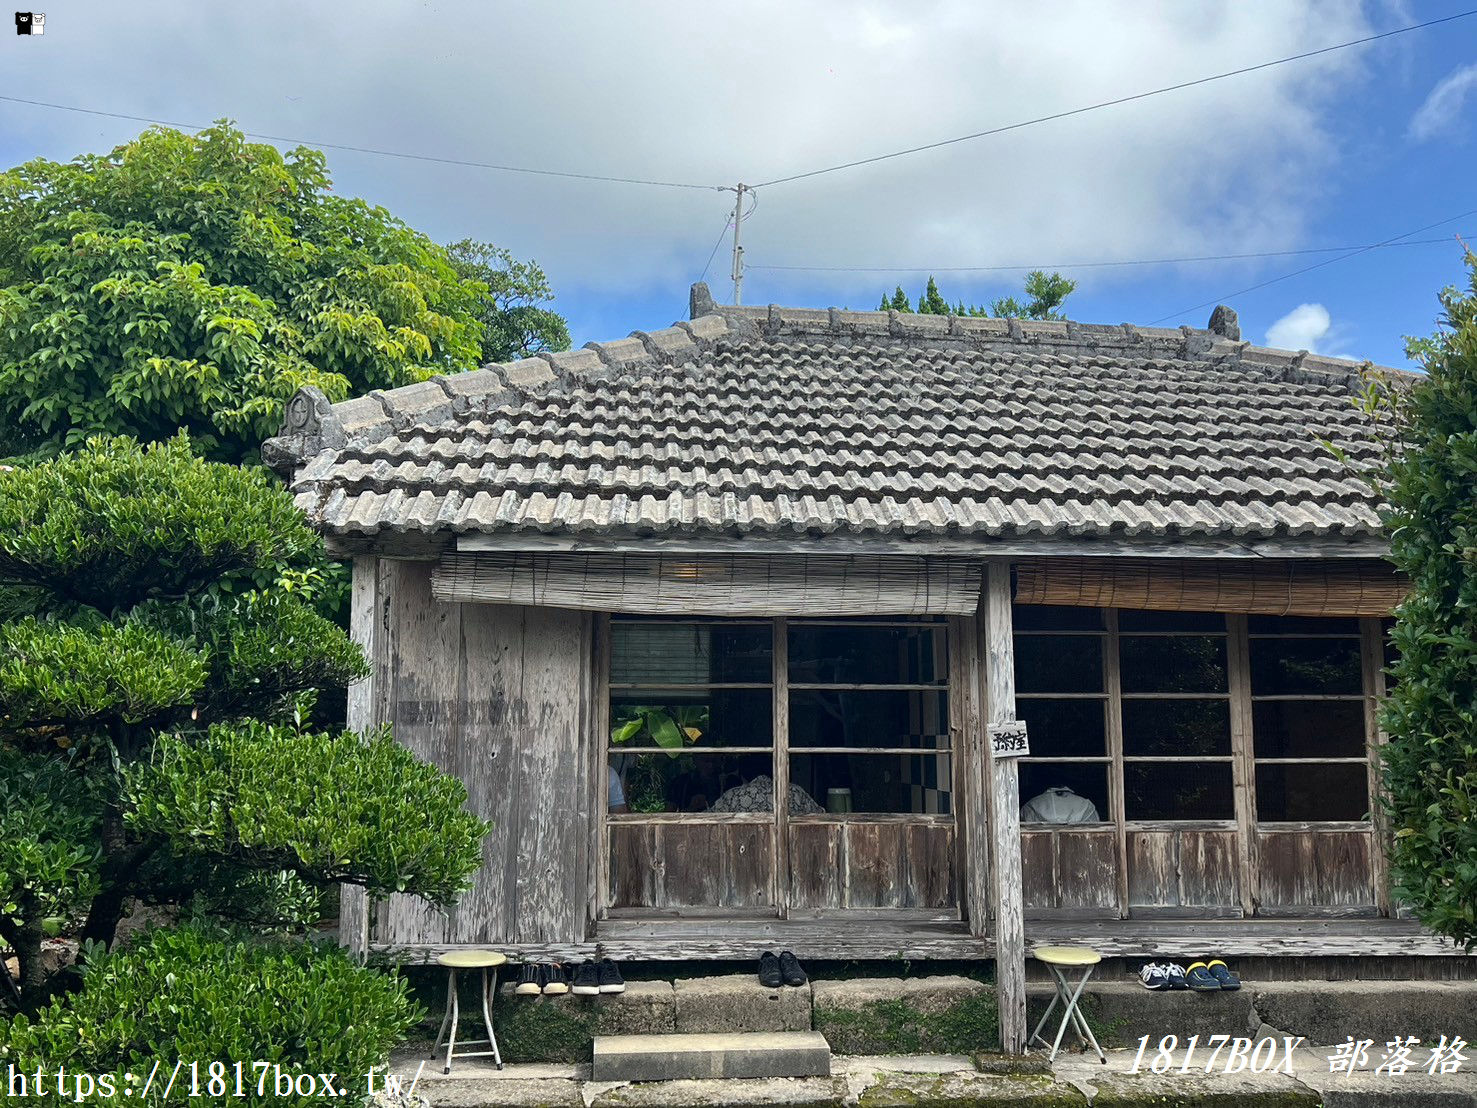
[[[384,718],[422,758],[458,774],[493,823],[473,889],[443,913],[393,897],[388,944],[570,944],[586,932],[589,616],[440,604],[430,566],[384,563],[377,677]]]

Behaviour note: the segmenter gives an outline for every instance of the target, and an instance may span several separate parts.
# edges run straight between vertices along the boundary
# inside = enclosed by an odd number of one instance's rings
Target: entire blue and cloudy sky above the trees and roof
[[[1452,15],[1459,3],[676,0],[251,7],[46,3],[0,35],[0,95],[310,142],[722,185],[762,182]],[[352,12],[352,15],[350,15]],[[759,189],[746,303],[951,300],[1060,264],[1069,315],[1204,326],[1406,365],[1477,214],[1255,291],[1325,254],[1072,269],[1388,239],[1477,208],[1477,16],[1071,120]],[[0,102],[0,161],[143,124]],[[288,143],[279,143],[288,145]],[[539,260],[576,343],[685,316],[731,194],[329,152],[335,186],[427,233]],[[765,266],[908,266],[799,272]],[[728,298],[728,253],[707,273]]]

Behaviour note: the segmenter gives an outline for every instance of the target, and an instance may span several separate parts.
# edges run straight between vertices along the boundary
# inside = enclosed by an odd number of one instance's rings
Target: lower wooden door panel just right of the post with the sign
[[[1025,912],[1035,919],[1118,914],[1118,833],[1114,829],[1021,832]]]

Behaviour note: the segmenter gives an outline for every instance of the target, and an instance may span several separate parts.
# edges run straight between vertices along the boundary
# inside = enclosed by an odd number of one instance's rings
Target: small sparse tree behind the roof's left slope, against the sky
[[[536,261],[518,261],[501,247],[470,238],[452,242],[446,251],[464,279],[487,287],[477,309],[483,362],[569,350],[569,322],[546,307],[554,290]]]

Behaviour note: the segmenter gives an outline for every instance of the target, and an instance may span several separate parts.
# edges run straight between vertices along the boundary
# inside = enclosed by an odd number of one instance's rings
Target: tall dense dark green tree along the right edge
[[[1447,326],[1411,343],[1425,377],[1371,391],[1393,406],[1387,465],[1399,659],[1382,722],[1397,895],[1421,922],[1477,947],[1477,257],[1465,294],[1442,294]]]

